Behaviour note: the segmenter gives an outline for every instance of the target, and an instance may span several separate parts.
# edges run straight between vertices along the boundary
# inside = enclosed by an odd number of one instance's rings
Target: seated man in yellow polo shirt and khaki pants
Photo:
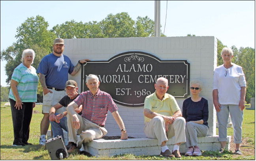
[[[156,92],[148,95],[144,102],[144,133],[148,138],[158,139],[161,153],[165,157],[181,157],[179,145],[186,142],[185,124],[181,109],[175,98],[167,94],[168,80],[160,77],[154,84]],[[170,152],[166,141],[175,136],[175,145]]]

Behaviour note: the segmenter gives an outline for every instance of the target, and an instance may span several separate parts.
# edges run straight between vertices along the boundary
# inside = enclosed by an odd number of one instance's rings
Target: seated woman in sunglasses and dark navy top
[[[186,156],[200,156],[197,137],[205,137],[208,133],[208,101],[200,97],[201,84],[199,81],[190,82],[190,95],[183,102],[182,116],[186,120]]]

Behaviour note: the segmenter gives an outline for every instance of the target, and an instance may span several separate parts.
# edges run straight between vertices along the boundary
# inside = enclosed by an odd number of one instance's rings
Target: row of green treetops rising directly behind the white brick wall
[[[109,14],[100,22],[75,22],[74,20],[57,24],[51,30],[58,37],[99,38],[99,37],[151,37],[154,36],[154,21],[149,17],[137,17],[134,21],[128,13]],[[165,36],[161,32],[161,36]]]

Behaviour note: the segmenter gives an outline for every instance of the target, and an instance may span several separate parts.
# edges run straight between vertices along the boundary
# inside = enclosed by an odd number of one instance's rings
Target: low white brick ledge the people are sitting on
[[[68,133],[64,133],[64,143],[68,144]],[[77,135],[79,137],[79,135]],[[47,139],[51,138],[51,131],[47,131]],[[231,136],[227,137],[228,141],[226,148],[230,150]],[[166,142],[170,150],[173,149],[175,137]],[[198,146],[201,150],[218,151],[220,150],[220,142],[218,142],[218,135],[198,137]],[[134,138],[127,140],[105,140],[96,139],[85,144],[85,151],[95,156],[113,156],[121,154],[134,155],[160,155],[161,147],[157,143],[157,139],[149,138]],[[185,143],[180,145],[179,151],[185,153],[187,150]]]

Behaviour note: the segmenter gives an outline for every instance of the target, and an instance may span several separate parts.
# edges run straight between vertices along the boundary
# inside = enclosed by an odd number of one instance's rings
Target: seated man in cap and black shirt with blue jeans
[[[68,125],[67,125],[67,118],[66,115],[68,114],[65,110],[64,112],[57,113],[56,110],[68,106],[70,102],[72,102],[78,95],[78,87],[77,82],[75,80],[68,80],[66,82],[66,88],[65,88],[66,94],[60,101],[54,105],[50,111],[49,111],[49,120],[51,123],[51,129],[53,130],[53,137],[62,136],[62,139],[64,139],[63,131],[68,132]],[[75,109],[75,112],[78,114],[82,114],[81,112],[82,106]]]

